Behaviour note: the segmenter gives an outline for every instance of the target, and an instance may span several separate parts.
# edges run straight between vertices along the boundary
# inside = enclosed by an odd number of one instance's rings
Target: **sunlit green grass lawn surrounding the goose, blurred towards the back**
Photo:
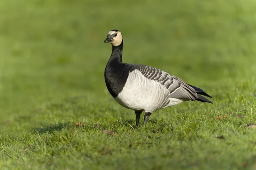
[[[111,29],[123,62],[213,104],[183,102],[135,129],[105,87]],[[255,40],[255,0],[1,0],[0,169],[256,169]]]

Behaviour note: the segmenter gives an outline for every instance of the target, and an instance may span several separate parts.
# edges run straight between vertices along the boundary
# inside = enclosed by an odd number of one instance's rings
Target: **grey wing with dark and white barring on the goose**
[[[162,70],[147,65],[141,65],[137,69],[146,78],[159,82],[161,85],[165,86],[169,91],[170,98],[192,101],[198,99],[199,95],[197,95],[195,89],[176,76],[172,76]]]

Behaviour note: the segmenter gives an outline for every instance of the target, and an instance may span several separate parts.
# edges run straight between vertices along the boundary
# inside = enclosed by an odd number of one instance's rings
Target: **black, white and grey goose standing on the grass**
[[[145,127],[151,113],[159,109],[189,100],[212,103],[201,96],[212,98],[202,89],[165,71],[148,65],[122,63],[123,37],[120,31],[109,31],[104,42],[112,45],[104,74],[106,86],[116,102],[135,111],[137,127],[143,111]]]

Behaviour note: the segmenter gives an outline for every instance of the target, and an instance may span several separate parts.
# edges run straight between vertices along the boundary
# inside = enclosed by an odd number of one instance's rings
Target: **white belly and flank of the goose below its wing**
[[[163,85],[145,78],[138,70],[129,73],[122,92],[114,99],[125,108],[151,113],[182,102],[169,98],[169,91]]]

